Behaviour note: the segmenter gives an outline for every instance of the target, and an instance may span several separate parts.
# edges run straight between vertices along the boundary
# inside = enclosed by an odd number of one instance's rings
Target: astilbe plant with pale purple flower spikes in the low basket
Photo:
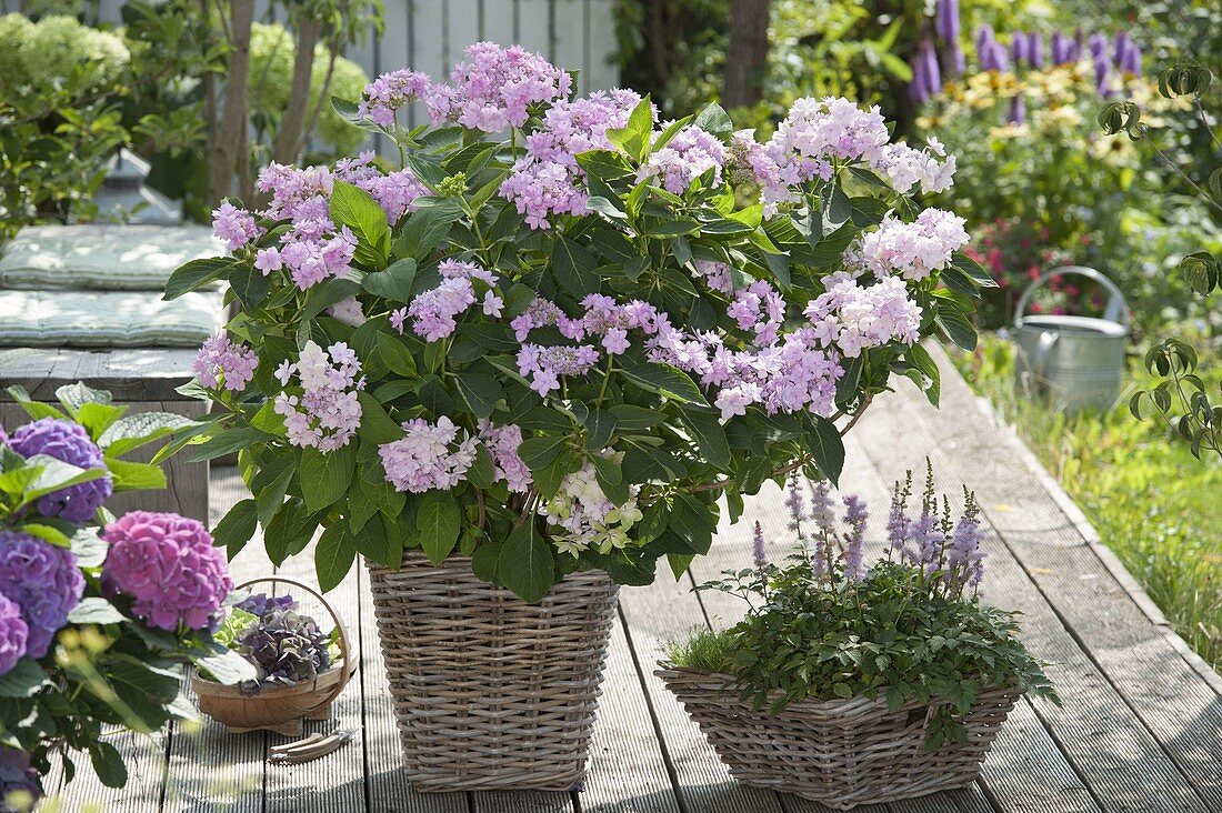
[[[797,553],[770,564],[756,524],[755,566],[699,588],[745,599],[745,617],[672,644],[671,663],[732,675],[744,699],[772,714],[803,699],[884,698],[892,710],[936,703],[927,743],[934,748],[962,738],[956,715],[986,690],[1058,699],[1018,639],[1017,614],[978,597],[985,534],[970,493],[954,520],[948,500],[934,493],[932,472],[915,513],[912,476],[897,483],[886,551],[866,566],[860,498],[835,500],[820,482],[808,502],[800,488],[794,478],[786,500]]]

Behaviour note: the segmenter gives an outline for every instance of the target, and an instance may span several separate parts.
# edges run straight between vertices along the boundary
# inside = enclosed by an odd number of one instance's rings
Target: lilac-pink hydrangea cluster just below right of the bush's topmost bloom
[[[501,197],[525,215],[532,229],[550,229],[556,214],[589,214],[585,171],[577,155],[590,149],[610,149],[606,131],[623,127],[640,97],[632,90],[598,90],[572,101],[554,104],[543,127],[527,136],[527,154],[513,164],[501,183]]]

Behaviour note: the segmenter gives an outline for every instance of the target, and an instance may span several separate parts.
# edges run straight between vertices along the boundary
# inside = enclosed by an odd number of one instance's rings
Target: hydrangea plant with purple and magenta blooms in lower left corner
[[[37,418],[0,428],[0,809],[31,809],[59,754],[68,779],[88,754],[121,786],[123,756],[103,737],[158,731],[183,718],[182,669],[227,683],[253,669],[213,638],[232,582],[202,523],[177,515],[105,512],[112,493],[165,485],[125,460],[191,421],[127,414],[76,384],[60,406],[10,394]]]

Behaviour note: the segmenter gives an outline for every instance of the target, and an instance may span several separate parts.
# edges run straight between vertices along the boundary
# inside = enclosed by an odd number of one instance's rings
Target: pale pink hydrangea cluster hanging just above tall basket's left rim
[[[403,429],[404,436],[378,447],[386,482],[400,491],[423,494],[434,488],[452,489],[475,462],[477,439],[467,436],[446,416],[436,423],[413,418]]]

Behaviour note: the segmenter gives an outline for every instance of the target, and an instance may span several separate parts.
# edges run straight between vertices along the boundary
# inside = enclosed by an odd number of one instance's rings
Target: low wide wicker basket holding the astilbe
[[[1019,697],[1008,690],[981,693],[960,718],[967,741],[930,753],[930,705],[910,703],[888,712],[881,699],[858,697],[802,701],[772,715],[743,702],[728,675],[666,664],[656,674],[700,724],[734,779],[841,811],[970,785]]]

